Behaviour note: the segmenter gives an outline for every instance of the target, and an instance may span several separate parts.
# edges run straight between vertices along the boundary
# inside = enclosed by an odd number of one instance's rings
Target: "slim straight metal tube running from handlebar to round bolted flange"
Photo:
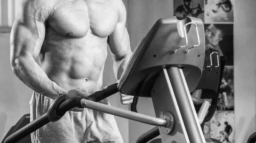
[[[122,118],[127,118],[130,120],[138,121],[141,123],[146,123],[153,126],[168,126],[168,120],[162,118],[155,118],[148,115],[143,115],[137,112],[132,112],[125,109],[120,109],[117,107],[112,107],[109,105],[101,104],[98,102],[81,99],[81,106],[88,109],[93,109],[100,112],[105,112],[111,115],[119,116]]]

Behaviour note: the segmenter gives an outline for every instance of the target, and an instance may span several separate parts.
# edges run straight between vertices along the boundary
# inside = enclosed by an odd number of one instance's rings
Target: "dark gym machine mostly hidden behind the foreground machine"
[[[218,94],[219,94],[219,89],[221,85],[221,79],[222,79],[222,74],[225,66],[225,61],[226,59],[224,56],[221,56],[221,57],[218,56],[218,50],[215,50],[209,46],[209,49],[205,51],[204,69],[203,69],[201,79],[198,82],[198,85],[195,91],[191,93],[192,96],[211,101],[211,106],[205,118],[203,118],[204,115],[198,114],[198,118],[204,119],[199,121],[201,123],[201,129],[203,131],[204,131],[204,123],[207,121],[210,121],[217,106]],[[133,112],[138,112],[137,111],[138,98],[139,98],[138,96],[135,96],[133,103],[131,103],[131,111]],[[192,100],[195,100],[195,98],[192,98]],[[193,102],[196,102],[196,101],[193,101]],[[201,106],[207,106],[207,104],[202,104]],[[196,109],[196,112],[198,113],[198,110],[200,109],[200,107],[196,106],[195,109]],[[200,116],[203,116],[203,117],[200,117]],[[149,130],[148,132],[146,132],[145,134],[141,135],[137,139],[136,143],[146,143],[150,140],[151,140],[150,143],[161,143],[159,138],[155,138],[158,135],[160,135],[160,132],[158,128],[155,127]],[[212,138],[209,138],[206,140],[212,141],[212,143],[221,143],[220,141]]]

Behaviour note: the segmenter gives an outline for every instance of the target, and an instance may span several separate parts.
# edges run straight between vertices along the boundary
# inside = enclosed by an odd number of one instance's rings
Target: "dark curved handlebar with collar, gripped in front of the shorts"
[[[87,100],[91,101],[101,101],[104,98],[107,98],[110,95],[113,95],[118,92],[117,84],[112,84],[108,87],[103,88],[89,96],[86,97]],[[41,128],[46,125],[50,121],[58,121],[61,117],[70,109],[74,107],[82,107],[81,106],[82,97],[70,97],[67,95],[60,95],[52,102],[47,113],[44,113],[39,118],[30,122],[26,126],[23,126],[21,129],[14,132],[12,135],[6,138],[4,143],[16,143],[17,141],[23,139],[27,135],[31,134],[35,130]]]

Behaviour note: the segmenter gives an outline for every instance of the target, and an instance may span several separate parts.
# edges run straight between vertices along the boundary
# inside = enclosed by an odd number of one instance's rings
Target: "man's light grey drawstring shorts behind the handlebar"
[[[30,121],[49,109],[51,98],[34,92],[29,102]],[[108,99],[99,101],[109,104]],[[32,143],[123,143],[113,115],[84,109],[68,111],[56,122],[50,122],[31,134]]]

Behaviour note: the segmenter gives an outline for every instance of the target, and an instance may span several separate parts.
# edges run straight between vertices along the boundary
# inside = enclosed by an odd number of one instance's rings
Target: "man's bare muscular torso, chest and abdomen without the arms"
[[[113,0],[52,0],[39,65],[65,90],[102,87],[108,36],[119,12]]]

